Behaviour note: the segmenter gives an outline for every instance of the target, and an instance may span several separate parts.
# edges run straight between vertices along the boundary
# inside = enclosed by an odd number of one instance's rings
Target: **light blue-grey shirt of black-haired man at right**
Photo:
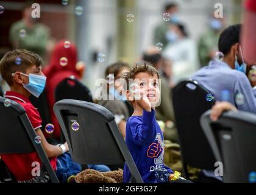
[[[253,90],[246,74],[230,68],[224,62],[213,60],[208,66],[199,69],[191,79],[196,80],[213,94],[216,101],[224,101],[223,92],[229,93],[229,101],[238,110],[256,114],[256,90]],[[242,94],[243,101],[237,104],[237,94]]]

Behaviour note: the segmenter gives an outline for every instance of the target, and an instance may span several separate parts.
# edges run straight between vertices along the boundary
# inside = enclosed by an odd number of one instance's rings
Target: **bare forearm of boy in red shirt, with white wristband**
[[[49,144],[40,128],[36,130],[36,133],[41,137],[41,144],[48,158],[59,157],[60,155],[62,155],[62,149],[60,148],[60,146],[54,146],[52,144]],[[64,145],[66,147],[66,151],[69,151],[68,144],[64,143]]]

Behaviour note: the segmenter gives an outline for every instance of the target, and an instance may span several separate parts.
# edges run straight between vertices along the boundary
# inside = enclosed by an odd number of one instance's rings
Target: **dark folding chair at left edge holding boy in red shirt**
[[[0,154],[26,154],[36,151],[43,163],[41,175],[47,171],[51,182],[59,183],[43,147],[34,141],[37,134],[24,108],[8,99],[9,105],[5,100],[0,97]]]

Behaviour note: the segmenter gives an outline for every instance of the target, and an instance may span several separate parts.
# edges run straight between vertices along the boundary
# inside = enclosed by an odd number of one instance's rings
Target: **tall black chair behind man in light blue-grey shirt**
[[[180,82],[172,91],[183,172],[187,179],[188,165],[199,169],[215,169],[213,151],[200,126],[201,115],[212,108],[214,103],[214,99],[205,99],[207,94],[210,92],[193,80]]]

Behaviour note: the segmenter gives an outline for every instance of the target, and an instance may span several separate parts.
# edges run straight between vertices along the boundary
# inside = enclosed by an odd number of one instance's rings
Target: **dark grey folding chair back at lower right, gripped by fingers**
[[[209,110],[201,116],[201,125],[223,165],[224,182],[250,182],[256,171],[256,115],[230,111],[213,122]]]

